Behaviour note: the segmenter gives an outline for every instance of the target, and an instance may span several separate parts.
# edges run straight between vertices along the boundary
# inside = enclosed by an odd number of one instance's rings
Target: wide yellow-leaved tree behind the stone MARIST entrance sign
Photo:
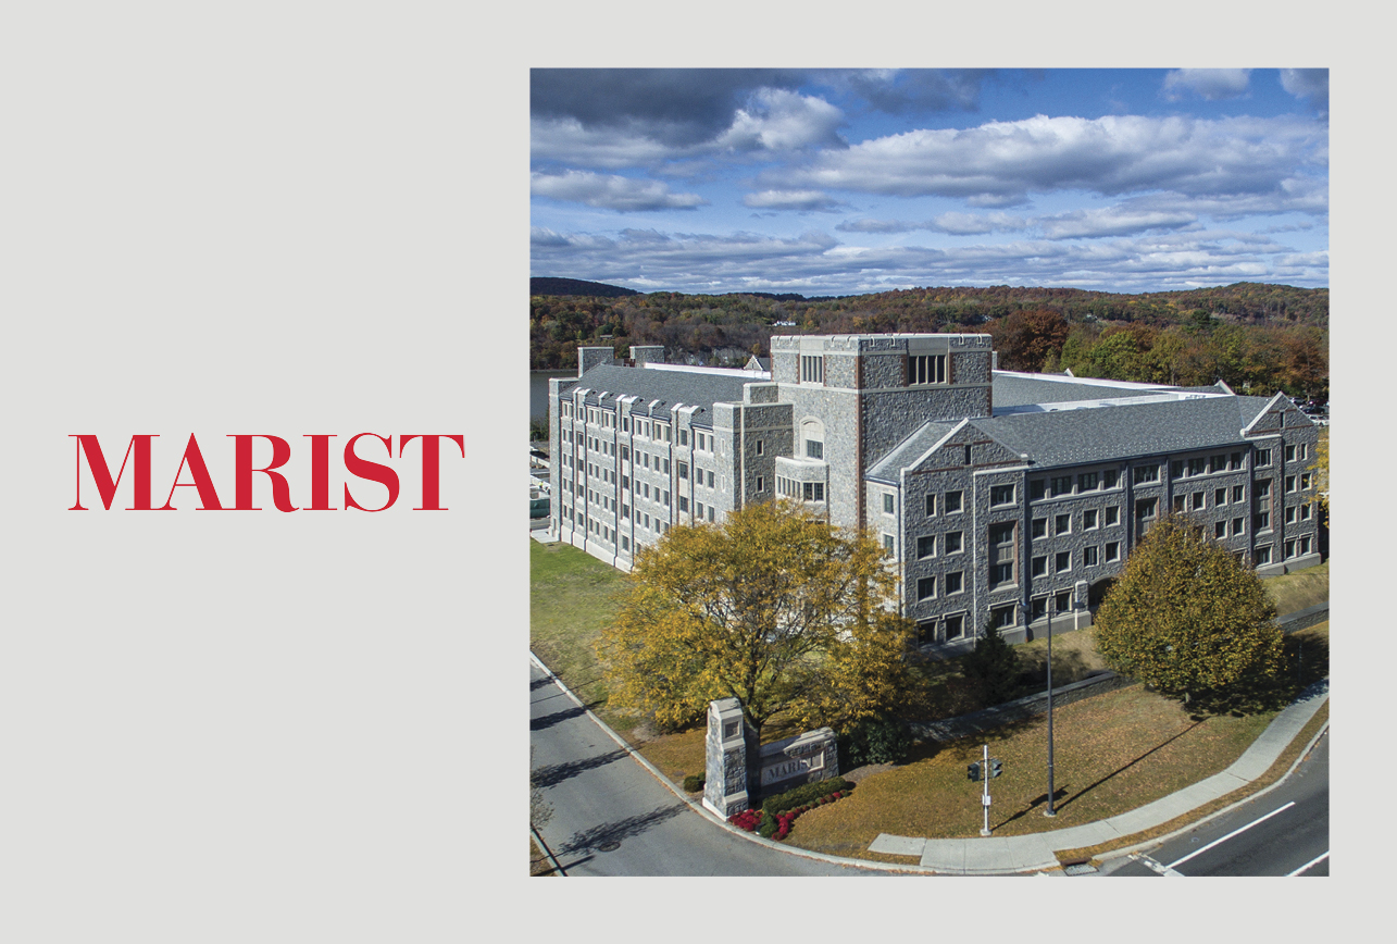
[[[643,548],[598,639],[608,701],[664,726],[736,698],[757,729],[784,713],[847,730],[898,703],[911,624],[870,534],[792,502],[675,527]]]

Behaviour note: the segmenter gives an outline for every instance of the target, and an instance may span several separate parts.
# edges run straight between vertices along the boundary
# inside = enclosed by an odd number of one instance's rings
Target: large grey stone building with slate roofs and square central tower
[[[773,337],[770,379],[662,355],[549,382],[550,530],[622,569],[788,498],[875,533],[919,641],[956,645],[1090,625],[1169,512],[1263,576],[1320,562],[1317,428],[1282,394],[996,371],[988,334]]]

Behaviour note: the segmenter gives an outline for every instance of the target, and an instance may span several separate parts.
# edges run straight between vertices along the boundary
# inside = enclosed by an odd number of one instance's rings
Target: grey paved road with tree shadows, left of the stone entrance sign
[[[662,786],[529,663],[532,765],[567,875],[876,875],[732,835]]]

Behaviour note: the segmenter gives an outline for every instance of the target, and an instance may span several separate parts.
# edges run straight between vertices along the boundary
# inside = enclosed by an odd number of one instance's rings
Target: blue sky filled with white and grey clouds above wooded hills
[[[1327,70],[531,73],[532,276],[1329,285]]]

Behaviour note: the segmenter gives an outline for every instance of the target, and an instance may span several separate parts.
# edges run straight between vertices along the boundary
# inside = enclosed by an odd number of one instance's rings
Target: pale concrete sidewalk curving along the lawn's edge
[[[922,868],[961,875],[1058,868],[1059,861],[1053,854],[1058,849],[1081,849],[1153,829],[1257,779],[1275,764],[1275,758],[1289,747],[1327,699],[1329,680],[1310,685],[1291,706],[1275,716],[1275,720],[1232,766],[1178,793],[1109,820],[1031,836],[919,839],[883,834],[873,841],[869,852],[919,856],[918,864]]]

